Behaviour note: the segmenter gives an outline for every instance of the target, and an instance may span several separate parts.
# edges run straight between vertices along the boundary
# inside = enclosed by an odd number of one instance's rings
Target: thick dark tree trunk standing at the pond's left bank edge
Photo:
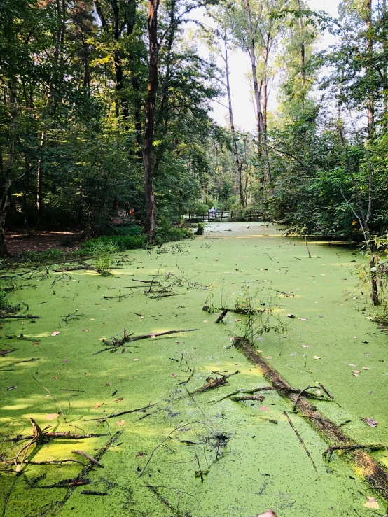
[[[144,231],[148,241],[153,241],[156,232],[156,204],[153,192],[152,148],[155,125],[156,92],[158,90],[158,7],[159,0],[148,0],[149,73],[146,98],[146,122],[144,125],[143,166],[146,220]]]

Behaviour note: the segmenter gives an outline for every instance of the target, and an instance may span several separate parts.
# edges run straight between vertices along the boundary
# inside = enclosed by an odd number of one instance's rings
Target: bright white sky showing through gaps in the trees
[[[331,16],[337,16],[337,6],[339,0],[307,0],[310,8],[314,10],[325,10]],[[319,47],[325,47],[328,45],[325,41],[319,43]],[[242,50],[236,50],[230,55],[229,60],[230,69],[230,90],[232,94],[232,105],[233,105],[233,117],[235,119],[236,129],[240,131],[248,132],[254,131],[256,128],[256,118],[254,114],[254,106],[251,99],[251,85],[247,78],[247,72],[251,71],[251,62],[249,56],[242,52]],[[276,91],[272,91],[272,101],[275,102]],[[228,104],[228,99],[219,99],[223,104]],[[220,125],[228,125],[228,111],[220,104],[213,103],[213,118]]]

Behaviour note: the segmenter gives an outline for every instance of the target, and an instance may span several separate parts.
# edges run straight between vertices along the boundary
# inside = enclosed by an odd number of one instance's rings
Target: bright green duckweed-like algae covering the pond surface
[[[256,341],[263,357],[293,386],[323,383],[335,402],[317,407],[350,438],[387,443],[387,332],[368,320],[372,308],[352,276],[361,255],[309,242],[310,259],[302,239],[252,222],[209,225],[203,238],[165,248],[123,254],[109,277],[44,269],[17,282],[13,301],[27,302],[28,313],[41,319],[9,320],[1,330],[0,351],[16,350],[0,357],[0,515],[249,517],[267,508],[279,517],[384,515],[384,501],[340,456],[323,460],[328,444],[276,392],[263,393],[263,402],[210,403],[268,385],[231,346],[244,316],[228,313],[216,325],[217,315],[202,311],[209,295],[214,306],[233,304],[250,285],[272,292],[287,325],[284,334]],[[186,278],[171,297],[155,299],[144,294],[149,284],[132,280],[158,275],[162,282],[168,273]],[[124,328],[132,336],[197,330],[93,355],[107,348],[102,338],[121,339]],[[17,339],[21,332],[29,340]],[[235,371],[226,385],[196,392],[209,376]],[[77,450],[104,468],[25,463],[16,475],[5,462],[28,442],[8,440],[32,434],[30,417],[50,431],[105,436],[55,438],[33,445],[26,460],[88,462],[71,452]],[[364,418],[378,424],[369,427]],[[388,466],[387,453],[373,455]],[[74,479],[90,483],[57,486]],[[367,496],[380,508],[364,507]]]

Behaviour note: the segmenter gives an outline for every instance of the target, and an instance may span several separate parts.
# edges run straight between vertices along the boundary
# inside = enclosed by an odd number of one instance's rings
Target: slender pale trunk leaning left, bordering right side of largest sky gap
[[[255,95],[256,109],[257,109],[257,115],[258,115],[257,116],[258,140],[259,140],[259,142],[260,141],[263,142],[265,178],[267,180],[268,193],[269,193],[270,197],[272,197],[273,189],[272,189],[272,180],[271,180],[271,172],[270,172],[270,161],[268,158],[267,135],[265,134],[265,130],[264,130],[263,113],[261,111],[260,92],[258,90],[257,73],[256,73],[255,41],[254,41],[254,33],[252,30],[251,8],[249,6],[249,0],[245,0],[245,10],[247,11],[248,32],[249,32],[249,37],[251,40],[250,49],[249,49],[249,57],[251,58],[252,79],[254,82],[254,95]]]

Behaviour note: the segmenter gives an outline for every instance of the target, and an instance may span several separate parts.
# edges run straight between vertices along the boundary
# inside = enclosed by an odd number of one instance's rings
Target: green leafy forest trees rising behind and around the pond
[[[338,12],[300,0],[1,2],[1,255],[7,228],[104,234],[125,204],[151,241],[160,222],[212,206],[253,208],[296,234],[386,232],[386,4]],[[234,124],[237,49],[251,59],[254,132]],[[226,127],[212,118],[221,101]]]

